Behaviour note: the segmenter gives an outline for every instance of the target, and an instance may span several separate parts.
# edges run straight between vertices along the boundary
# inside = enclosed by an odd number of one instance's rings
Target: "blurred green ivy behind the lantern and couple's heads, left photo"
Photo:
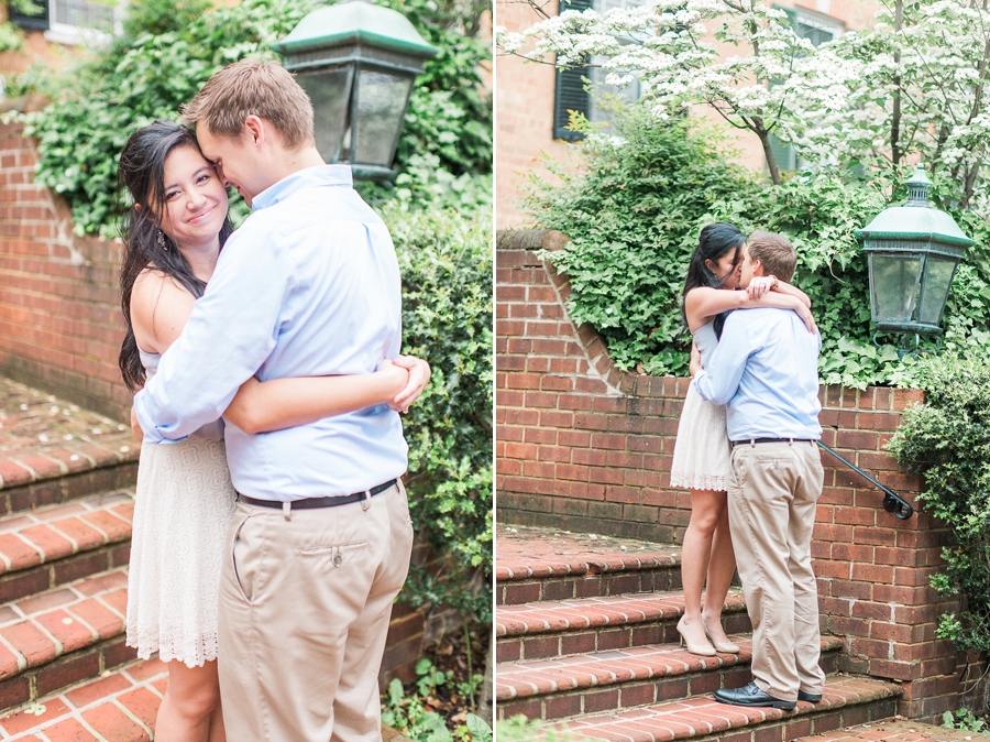
[[[114,234],[117,163],[128,137],[155,119],[175,120],[221,67],[243,59],[277,58],[268,45],[285,36],[317,0],[244,0],[202,12],[206,0],[138,0],[129,9],[124,33],[95,58],[62,76],[57,100],[29,116],[29,133],[40,139],[36,179],[62,194],[79,233]],[[398,7],[396,0],[395,3]],[[395,166],[405,172],[414,155],[432,156],[454,178],[492,172],[492,101],[483,94],[479,65],[486,44],[461,33],[477,33],[473,14],[460,4],[439,7],[408,0],[399,8],[441,48],[417,79]],[[431,10],[432,9],[432,10]],[[70,85],[66,85],[72,80]],[[45,91],[58,84],[25,78]],[[382,198],[387,188],[365,187]],[[232,196],[232,215],[246,208]]]

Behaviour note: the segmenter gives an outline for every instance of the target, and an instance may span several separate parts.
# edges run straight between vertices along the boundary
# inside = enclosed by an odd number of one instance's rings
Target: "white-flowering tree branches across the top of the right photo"
[[[600,14],[564,10],[524,33],[496,29],[507,54],[604,59],[610,85],[639,78],[662,119],[692,105],[760,140],[781,182],[771,134],[805,162],[900,178],[905,159],[942,175],[964,208],[990,157],[987,0],[881,0],[872,29],[815,48],[757,0],[650,0]],[[726,48],[732,52],[726,54]]]

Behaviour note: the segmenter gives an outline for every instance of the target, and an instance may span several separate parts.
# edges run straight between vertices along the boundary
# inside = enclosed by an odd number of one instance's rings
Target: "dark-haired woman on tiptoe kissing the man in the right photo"
[[[702,229],[691,255],[681,310],[702,365],[718,345],[725,316],[733,309],[794,309],[815,331],[811,302],[799,288],[768,276],[754,279],[746,291],[734,291],[739,287],[745,243],[743,232],[718,221]],[[691,520],[681,549],[684,615],[678,632],[689,652],[705,656],[739,651],[722,626],[722,608],[736,569],[726,506],[728,469],[725,408],[702,400],[692,381],[678,426],[670,484],[691,490]]]

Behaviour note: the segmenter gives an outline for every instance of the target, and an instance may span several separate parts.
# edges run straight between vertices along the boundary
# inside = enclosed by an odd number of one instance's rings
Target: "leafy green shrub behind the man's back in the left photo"
[[[404,599],[492,620],[491,211],[382,208],[403,275],[404,351],[433,378],[405,419],[406,479],[417,527],[447,555],[439,576],[414,569]]]

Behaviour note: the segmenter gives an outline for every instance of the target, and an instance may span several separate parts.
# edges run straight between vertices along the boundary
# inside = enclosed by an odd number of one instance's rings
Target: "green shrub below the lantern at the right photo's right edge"
[[[909,407],[888,444],[912,473],[919,502],[952,528],[945,567],[931,578],[961,609],[938,618],[936,635],[958,650],[990,651],[990,367],[982,352],[927,359],[919,374],[925,403]]]

